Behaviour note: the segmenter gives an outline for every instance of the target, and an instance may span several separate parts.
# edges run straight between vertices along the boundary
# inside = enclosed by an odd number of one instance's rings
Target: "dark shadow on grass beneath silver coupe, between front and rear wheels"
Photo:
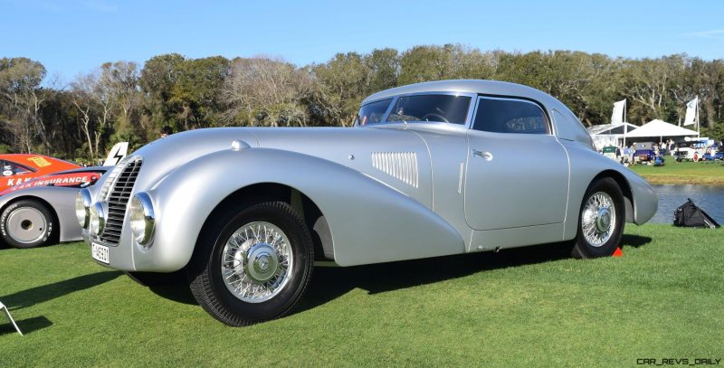
[[[376,294],[462,278],[482,271],[568,258],[570,247],[567,244],[554,243],[500,250],[497,253],[462,254],[347,268],[318,267],[314,269],[310,286],[300,302],[300,307],[295,308],[292,314],[323,305],[355,288]]]

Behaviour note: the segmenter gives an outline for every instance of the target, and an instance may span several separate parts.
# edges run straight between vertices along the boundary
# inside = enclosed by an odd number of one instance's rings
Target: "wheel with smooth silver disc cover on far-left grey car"
[[[0,214],[0,236],[14,248],[43,247],[58,242],[55,213],[32,199],[10,203]]]

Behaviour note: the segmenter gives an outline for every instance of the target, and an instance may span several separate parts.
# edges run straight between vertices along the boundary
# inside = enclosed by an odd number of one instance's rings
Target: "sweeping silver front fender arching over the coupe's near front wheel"
[[[319,207],[340,266],[464,251],[461,235],[449,223],[386,184],[318,157],[247,148],[199,157],[148,191],[157,215],[156,239],[148,250],[134,247],[135,269],[183,268],[214,208],[239,189],[262,183],[288,185]]]

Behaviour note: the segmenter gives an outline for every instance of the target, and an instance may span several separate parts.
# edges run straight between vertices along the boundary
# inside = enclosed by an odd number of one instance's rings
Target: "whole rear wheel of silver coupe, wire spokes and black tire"
[[[578,221],[572,255],[578,259],[614,254],[624,233],[624,194],[612,178],[588,187]]]

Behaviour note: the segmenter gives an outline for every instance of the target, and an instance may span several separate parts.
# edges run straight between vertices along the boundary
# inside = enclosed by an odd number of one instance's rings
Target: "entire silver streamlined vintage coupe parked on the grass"
[[[362,102],[356,127],[202,129],[139,149],[81,190],[100,264],[183,269],[212,316],[289,312],[314,260],[353,266],[572,244],[610,255],[652,187],[599,155],[573,113],[518,84],[444,80]]]

